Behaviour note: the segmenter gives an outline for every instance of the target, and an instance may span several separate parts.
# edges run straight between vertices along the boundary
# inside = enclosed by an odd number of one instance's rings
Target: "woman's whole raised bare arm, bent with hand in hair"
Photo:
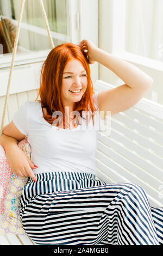
[[[102,119],[134,106],[153,86],[153,79],[135,65],[96,47],[90,40],[79,44],[87,52],[90,64],[98,62],[114,72],[124,84],[98,93],[98,106]]]

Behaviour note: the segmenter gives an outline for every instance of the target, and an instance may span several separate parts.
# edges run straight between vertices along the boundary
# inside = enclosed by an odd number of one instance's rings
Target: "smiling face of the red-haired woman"
[[[69,112],[73,111],[74,103],[82,99],[86,88],[86,70],[78,60],[70,60],[65,66],[61,85],[62,102],[64,107],[69,107]],[[70,90],[80,90],[80,92],[72,93]]]

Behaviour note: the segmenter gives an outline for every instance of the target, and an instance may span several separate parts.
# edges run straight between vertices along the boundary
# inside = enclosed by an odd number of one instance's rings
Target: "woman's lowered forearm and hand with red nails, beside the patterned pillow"
[[[37,167],[34,167],[33,162],[30,161],[29,157],[21,148],[17,145],[12,147],[11,150],[7,151],[6,156],[13,173],[21,177],[30,176],[34,181],[36,181],[36,177],[32,169]]]

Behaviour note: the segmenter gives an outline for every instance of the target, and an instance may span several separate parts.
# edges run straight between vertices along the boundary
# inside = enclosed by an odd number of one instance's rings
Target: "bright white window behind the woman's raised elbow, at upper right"
[[[163,104],[163,1],[99,0],[99,8],[100,47],[151,76],[154,85],[145,97]],[[104,24],[108,24],[107,30]],[[114,75],[109,73],[108,79],[106,71],[100,69],[101,80],[120,84]]]

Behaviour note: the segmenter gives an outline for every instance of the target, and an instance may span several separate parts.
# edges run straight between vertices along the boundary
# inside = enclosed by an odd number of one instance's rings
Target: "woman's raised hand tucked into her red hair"
[[[93,44],[91,40],[82,40],[80,41],[79,46],[82,47],[84,52],[86,53],[87,59],[89,60],[89,64],[95,63],[95,56],[98,47],[95,44]]]

